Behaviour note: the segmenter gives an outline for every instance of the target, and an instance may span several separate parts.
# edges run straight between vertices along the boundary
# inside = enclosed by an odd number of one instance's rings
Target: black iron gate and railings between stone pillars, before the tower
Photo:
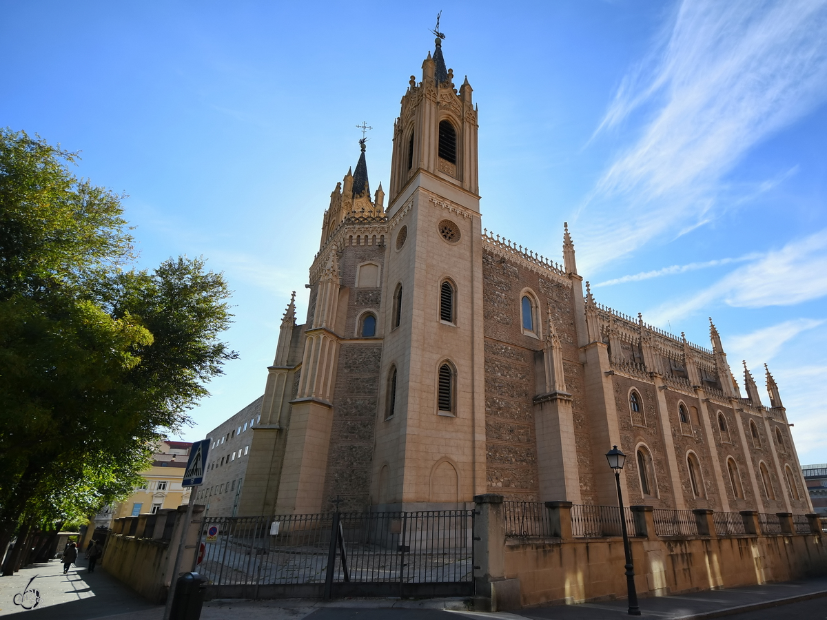
[[[474,511],[206,517],[213,598],[471,596]]]

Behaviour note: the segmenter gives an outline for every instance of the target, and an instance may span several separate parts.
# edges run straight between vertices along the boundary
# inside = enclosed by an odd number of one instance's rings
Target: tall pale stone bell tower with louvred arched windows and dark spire
[[[371,476],[373,502],[388,508],[485,493],[477,110],[436,34],[394,124]]]

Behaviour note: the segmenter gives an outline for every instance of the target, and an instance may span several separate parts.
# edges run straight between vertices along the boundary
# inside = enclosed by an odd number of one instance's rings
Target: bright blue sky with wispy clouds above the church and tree
[[[561,260],[569,222],[601,303],[707,347],[713,317],[742,388],[766,362],[802,464],[827,462],[827,2],[0,0],[0,124],[130,195],[141,266],[203,255],[235,291],[241,358],[184,438],[263,392],[363,120],[387,188],[439,10],[483,226]]]

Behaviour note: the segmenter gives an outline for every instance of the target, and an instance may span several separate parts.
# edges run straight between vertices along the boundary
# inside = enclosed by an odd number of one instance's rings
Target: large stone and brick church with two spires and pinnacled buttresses
[[[251,428],[239,516],[465,508],[475,495],[812,513],[786,412],[710,323],[697,346],[597,303],[562,265],[483,228],[478,109],[437,37],[394,123],[390,182],[366,145],[336,184]],[[387,198],[387,207],[385,207]],[[319,215],[321,216],[321,208]],[[295,295],[295,293],[294,293]]]

